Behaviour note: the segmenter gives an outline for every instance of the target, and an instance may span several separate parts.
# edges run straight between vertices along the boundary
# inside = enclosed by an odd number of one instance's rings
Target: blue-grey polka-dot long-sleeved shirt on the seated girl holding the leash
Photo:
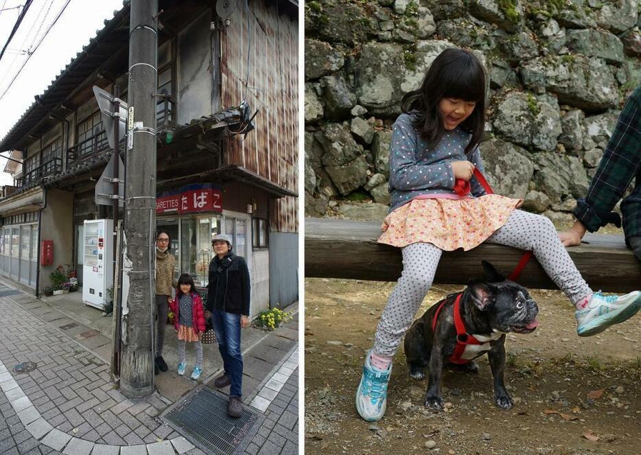
[[[454,193],[454,171],[452,161],[467,160],[480,172],[483,165],[478,147],[469,157],[465,156],[465,146],[469,142],[469,133],[456,127],[445,131],[445,135],[434,150],[428,145],[412,125],[414,117],[401,114],[396,119],[392,130],[390,147],[390,211],[410,202],[417,196],[426,194]],[[482,196],[485,189],[472,177],[471,194]]]

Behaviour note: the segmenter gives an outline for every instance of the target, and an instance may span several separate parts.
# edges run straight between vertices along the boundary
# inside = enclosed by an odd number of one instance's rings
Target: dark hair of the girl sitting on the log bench
[[[445,49],[437,56],[418,90],[406,93],[401,100],[404,113],[415,112],[414,127],[434,148],[445,134],[439,102],[443,98],[476,102],[474,111],[461,128],[471,133],[465,154],[476,148],[485,128],[485,70],[470,51]]]

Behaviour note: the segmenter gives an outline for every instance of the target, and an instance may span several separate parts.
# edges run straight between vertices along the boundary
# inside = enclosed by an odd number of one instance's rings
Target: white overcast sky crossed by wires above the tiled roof
[[[26,0],[0,0],[0,50],[4,47]],[[69,3],[69,4],[67,4]],[[67,4],[60,19],[49,30],[25,67],[25,51],[32,51],[45,35],[58,13]],[[14,9],[9,9],[14,8]],[[56,79],[82,46],[104,27],[104,19],[111,19],[114,10],[122,8],[122,0],[33,0],[19,29],[0,59],[0,139],[5,137],[16,121]],[[8,86],[14,76],[13,84]],[[8,90],[7,90],[8,89]],[[5,93],[6,91],[6,93]],[[4,156],[8,152],[0,150]],[[4,170],[5,159],[0,158],[0,185],[12,185],[10,174]]]

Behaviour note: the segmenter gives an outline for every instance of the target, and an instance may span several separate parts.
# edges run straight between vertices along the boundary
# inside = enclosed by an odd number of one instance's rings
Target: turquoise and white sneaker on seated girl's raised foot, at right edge
[[[583,310],[576,310],[576,332],[579,336],[592,336],[611,325],[622,323],[634,316],[641,308],[641,292],[622,296],[604,296],[601,291],[592,294],[592,299]]]

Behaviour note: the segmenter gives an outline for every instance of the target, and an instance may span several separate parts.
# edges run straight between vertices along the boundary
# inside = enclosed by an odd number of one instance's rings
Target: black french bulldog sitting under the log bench
[[[405,355],[410,367],[410,377],[423,380],[423,369],[428,366],[429,380],[425,406],[430,408],[443,409],[443,399],[440,395],[443,366],[449,360],[454,360],[457,363],[450,363],[448,366],[453,366],[458,371],[476,373],[478,365],[472,360],[484,353],[487,353],[494,377],[496,406],[510,409],[514,404],[505,390],[503,377],[505,334],[529,334],[534,331],[539,325],[539,308],[522,285],[500,275],[487,261],[482,261],[482,266],[486,274],[485,279],[470,281],[460,299],[460,314],[467,334],[456,334],[454,303],[458,294],[450,294],[415,320],[405,336]],[[445,303],[441,307],[443,301]],[[437,312],[438,316],[434,320]],[[452,358],[457,338],[465,342],[470,336],[476,338],[479,344],[465,345],[465,351],[462,351],[460,358]]]

